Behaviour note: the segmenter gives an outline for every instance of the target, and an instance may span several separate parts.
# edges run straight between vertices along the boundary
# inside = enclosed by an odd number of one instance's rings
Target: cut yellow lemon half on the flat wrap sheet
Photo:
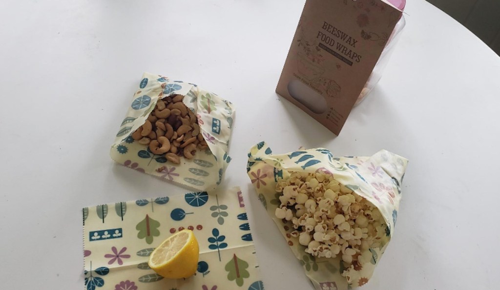
[[[187,278],[196,272],[198,257],[199,246],[194,233],[183,229],[155,248],[147,264],[165,278]]]

